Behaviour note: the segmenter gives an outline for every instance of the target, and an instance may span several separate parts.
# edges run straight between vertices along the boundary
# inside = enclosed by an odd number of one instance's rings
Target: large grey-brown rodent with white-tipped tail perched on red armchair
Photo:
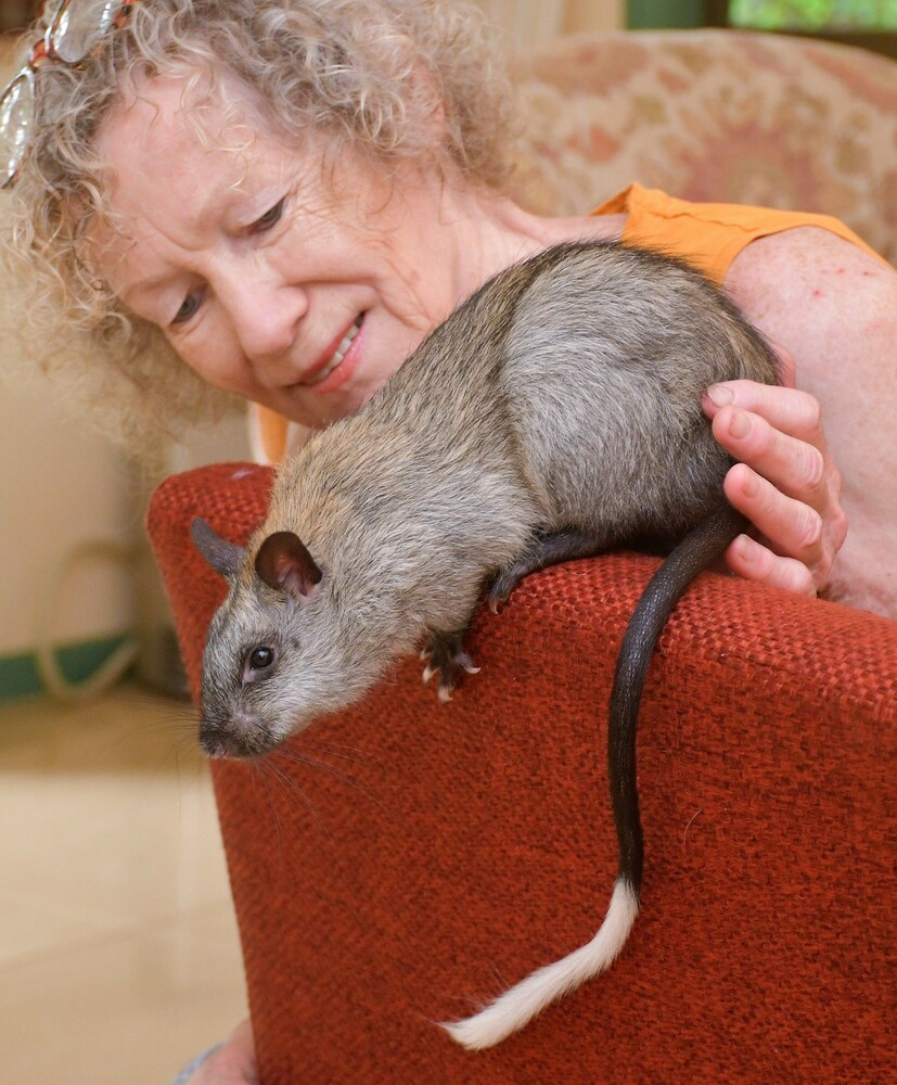
[[[489,280],[358,413],[279,471],[239,547],[194,523],[230,582],[208,633],[200,740],[261,754],[356,701],[423,641],[446,697],[473,671],[462,637],[482,595],[612,545],[683,539],[642,595],[611,698],[619,841],[611,906],[587,945],[480,1012],[446,1023],[490,1047],[617,956],[639,907],[636,724],[645,672],[688,584],[745,526],[731,461],[703,417],[708,385],[777,381],[777,357],[688,265],[617,242],[546,250]]]

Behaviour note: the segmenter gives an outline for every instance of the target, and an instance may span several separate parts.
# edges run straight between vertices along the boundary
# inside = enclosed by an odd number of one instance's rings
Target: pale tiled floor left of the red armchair
[[[0,1082],[167,1085],[246,1016],[187,705],[0,705]]]

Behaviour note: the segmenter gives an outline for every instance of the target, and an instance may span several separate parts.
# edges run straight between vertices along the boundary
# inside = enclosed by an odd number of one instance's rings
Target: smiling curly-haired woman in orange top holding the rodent
[[[282,455],[277,419],[295,444],[361,407],[489,276],[554,243],[631,240],[636,205],[666,199],[633,190],[566,219],[509,200],[508,88],[457,3],[64,9],[48,50],[85,62],[41,63],[37,120],[4,105],[15,247],[43,286],[37,319],[92,336],[121,417],[172,423],[213,386],[253,403]],[[897,275],[834,220],[758,214],[720,278],[799,388],[708,390],[740,461],[726,493],[765,540],[742,536],[728,564],[897,613],[897,462],[879,421],[897,399]],[[253,1073],[241,1026],[191,1081]]]

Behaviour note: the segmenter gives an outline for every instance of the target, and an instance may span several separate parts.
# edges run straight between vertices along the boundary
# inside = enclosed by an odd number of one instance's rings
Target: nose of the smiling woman
[[[219,296],[243,354],[258,367],[259,379],[279,383],[279,370],[290,360],[308,307],[305,291],[285,283],[241,279],[230,285],[227,295]]]

